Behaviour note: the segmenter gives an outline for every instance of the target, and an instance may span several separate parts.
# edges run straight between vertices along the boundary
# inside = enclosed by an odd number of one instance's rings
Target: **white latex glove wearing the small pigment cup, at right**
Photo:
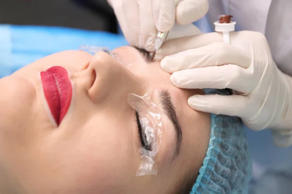
[[[273,129],[278,146],[292,144],[292,78],[276,66],[265,36],[231,32],[231,44],[213,32],[164,42],[156,55],[179,88],[230,88],[235,95],[195,95],[195,110],[239,116],[254,130]],[[164,56],[162,55],[164,54]],[[176,53],[176,54],[175,54]]]

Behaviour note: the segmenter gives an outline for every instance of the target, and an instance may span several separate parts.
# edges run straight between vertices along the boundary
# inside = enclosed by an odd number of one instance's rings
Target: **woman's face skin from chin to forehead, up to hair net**
[[[176,88],[160,62],[147,63],[135,48],[113,52],[118,61],[102,51],[60,52],[0,80],[0,174],[7,185],[32,194],[170,194],[188,172],[198,172],[210,118],[189,108],[187,98],[202,91]],[[59,124],[40,78],[52,66],[64,67],[73,86]],[[175,113],[161,104],[161,91]],[[136,176],[142,143],[129,93],[151,94],[161,113],[157,176]]]

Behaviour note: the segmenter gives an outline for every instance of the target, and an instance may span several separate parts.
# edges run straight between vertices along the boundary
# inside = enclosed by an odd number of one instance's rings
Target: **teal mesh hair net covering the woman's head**
[[[230,95],[228,89],[206,94]],[[252,161],[240,118],[211,114],[209,147],[190,194],[247,194]]]

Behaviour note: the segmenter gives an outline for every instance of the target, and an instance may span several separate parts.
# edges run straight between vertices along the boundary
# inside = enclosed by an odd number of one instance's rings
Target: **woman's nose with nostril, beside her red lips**
[[[88,68],[93,82],[88,94],[94,103],[119,103],[139,88],[138,78],[105,52],[96,53]]]

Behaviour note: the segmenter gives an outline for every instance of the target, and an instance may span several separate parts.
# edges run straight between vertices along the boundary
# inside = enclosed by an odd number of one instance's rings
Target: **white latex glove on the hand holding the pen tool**
[[[179,25],[191,24],[202,18],[209,8],[207,0],[178,0],[177,6],[175,0],[108,0],[108,2],[114,9],[128,43],[147,51],[154,51],[157,30],[170,31],[175,22]]]

